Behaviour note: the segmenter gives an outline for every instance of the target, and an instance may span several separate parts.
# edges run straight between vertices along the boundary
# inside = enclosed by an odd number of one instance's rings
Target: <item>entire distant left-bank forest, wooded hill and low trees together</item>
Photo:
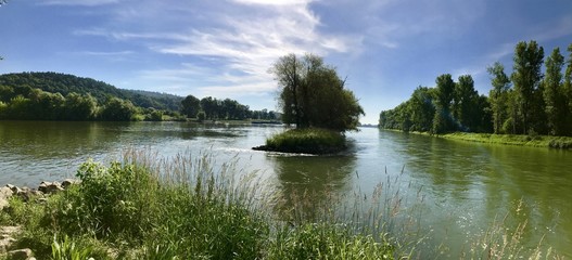
[[[190,95],[192,96],[192,95]],[[117,89],[109,83],[59,73],[0,75],[0,119],[15,120],[186,120],[182,96]],[[204,109],[203,109],[204,107]],[[206,119],[276,119],[237,101],[205,98]],[[181,113],[183,115],[181,115]]]

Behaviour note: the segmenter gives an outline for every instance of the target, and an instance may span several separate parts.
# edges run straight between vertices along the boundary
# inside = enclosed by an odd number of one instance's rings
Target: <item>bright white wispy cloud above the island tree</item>
[[[188,63],[175,69],[144,70],[142,75],[145,77],[164,77],[180,82],[194,75],[209,78],[208,81],[217,80],[211,83],[194,81],[200,83],[196,87],[203,92],[224,93],[223,90],[229,88],[227,93],[259,94],[276,88],[268,68],[282,55],[307,52],[328,55],[355,51],[359,46],[359,37],[323,31],[320,17],[313,12],[310,3],[312,0],[230,0],[232,6],[220,8],[214,3],[202,6],[204,12],[209,13],[209,21],[206,22],[191,15],[193,9],[182,6],[183,11],[179,12],[189,12],[187,16],[196,20],[181,20],[177,26],[170,23],[163,25],[167,22],[158,21],[154,26],[142,29],[120,26],[114,26],[114,29],[82,28],[74,34],[114,41],[141,41],[155,53],[189,57]],[[153,3],[143,1],[143,4]],[[168,4],[157,8],[168,8]],[[115,14],[120,16],[118,21],[125,21],[126,15],[130,20],[141,20],[157,13],[163,12],[138,6],[135,11]],[[196,62],[209,60],[216,61],[209,63],[209,66],[216,67],[196,69]],[[198,73],[202,75],[195,75]]]

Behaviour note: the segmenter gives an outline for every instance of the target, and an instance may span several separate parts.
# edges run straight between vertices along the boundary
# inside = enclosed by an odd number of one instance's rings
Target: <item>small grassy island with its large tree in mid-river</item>
[[[364,108],[351,90],[344,89],[335,68],[313,54],[282,56],[270,69],[280,87],[282,121],[295,125],[253,150],[335,154],[347,146],[345,131],[355,131]]]

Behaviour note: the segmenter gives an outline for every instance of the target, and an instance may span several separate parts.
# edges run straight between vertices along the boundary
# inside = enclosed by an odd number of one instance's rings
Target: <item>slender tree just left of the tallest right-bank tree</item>
[[[493,129],[495,133],[500,133],[503,125],[508,119],[510,79],[505,74],[505,66],[499,62],[487,67],[486,70],[491,75],[491,84],[493,86],[493,89],[488,92],[493,114]]]

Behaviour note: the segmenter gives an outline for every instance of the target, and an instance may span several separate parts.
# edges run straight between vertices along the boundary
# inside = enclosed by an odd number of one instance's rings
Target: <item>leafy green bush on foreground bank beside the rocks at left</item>
[[[142,238],[151,225],[148,213],[158,185],[145,169],[119,162],[106,168],[88,161],[76,176],[81,185],[72,188],[53,212],[54,221],[66,234]]]

